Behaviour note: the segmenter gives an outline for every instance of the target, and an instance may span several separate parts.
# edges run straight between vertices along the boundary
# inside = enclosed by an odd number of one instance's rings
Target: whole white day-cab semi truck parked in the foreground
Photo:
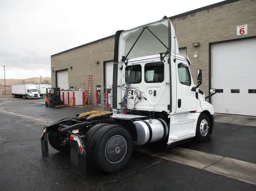
[[[63,117],[43,128],[41,149],[70,152],[72,169],[82,176],[97,168],[123,169],[133,145],[169,147],[209,139],[214,109],[192,79],[189,58],[179,46],[168,17],[115,34],[113,111],[89,111]],[[48,135],[48,136],[47,136]]]

